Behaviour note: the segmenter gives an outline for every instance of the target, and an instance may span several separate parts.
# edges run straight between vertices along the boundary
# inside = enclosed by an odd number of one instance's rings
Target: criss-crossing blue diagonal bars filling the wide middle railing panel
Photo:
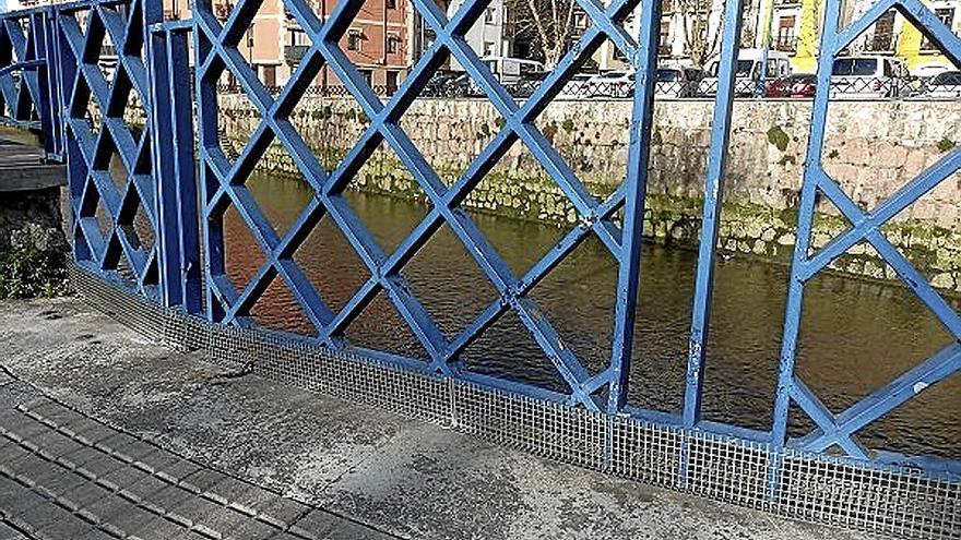
[[[240,14],[249,10],[238,10],[236,16],[232,16],[227,20],[223,29],[217,29],[216,21],[210,16],[200,16],[200,24],[206,29],[207,36],[213,44],[212,50],[216,55],[216,57],[211,56],[211,58],[206,60],[204,68],[213,69],[215,61],[214,58],[223,61],[224,65],[238,77],[241,85],[244,85],[245,88],[250,92],[251,96],[253,96],[252,100],[254,106],[260,110],[262,118],[259,128],[251,135],[250,142],[245,148],[245,152],[241,154],[240,158],[238,158],[233,168],[225,170],[225,159],[217,156],[216,152],[213,153],[213,171],[220,181],[220,188],[207,202],[207,208],[213,209],[222,204],[222,197],[229,197],[235,207],[237,207],[238,213],[241,214],[245,221],[251,227],[257,240],[260,242],[261,247],[264,248],[264,253],[268,255],[266,263],[239,295],[230,292],[224,293],[224,291],[215,293],[220,298],[227,299],[226,303],[229,304],[229,308],[225,310],[226,320],[229,321],[236,319],[238,315],[241,315],[249,310],[253,303],[256,303],[258,298],[266,290],[270,281],[277,274],[282,274],[290,286],[290,289],[294,291],[295,297],[297,297],[298,302],[305,308],[311,322],[320,332],[322,339],[329,345],[339,345],[334,340],[336,333],[340,333],[346,325],[348,325],[373,298],[379,289],[382,288],[388,290],[389,296],[391,297],[391,300],[394,301],[399,312],[404,316],[408,324],[411,324],[412,329],[414,329],[415,335],[418,337],[422,345],[424,345],[425,350],[431,356],[430,369],[448,372],[448,361],[460,352],[463,347],[468,345],[472,339],[476,338],[480,331],[485,329],[489,324],[493,324],[502,311],[488,310],[486,313],[494,314],[495,316],[488,316],[482,324],[468,328],[468,331],[473,331],[473,335],[468,335],[466,339],[463,337],[455,339],[453,347],[449,347],[447,339],[432,323],[427,311],[419,305],[415,298],[406,293],[406,286],[403,284],[399,274],[400,268],[411,259],[416,249],[429,239],[430,235],[432,235],[441,225],[447,224],[461,239],[467,249],[467,252],[475,257],[480,268],[495,285],[501,296],[499,304],[510,305],[519,313],[521,321],[529,327],[529,329],[531,329],[538,344],[548,353],[548,357],[555,361],[561,375],[574,389],[576,400],[583,403],[589,407],[593,407],[593,403],[589,400],[586,395],[580,388],[580,385],[588,381],[589,375],[586,374],[586,371],[580,365],[577,359],[573,358],[573,355],[563,347],[557,332],[537,310],[536,305],[525,297],[526,290],[530,286],[533,286],[539,280],[537,274],[534,274],[534,279],[527,280],[530,284],[529,286],[519,287],[518,279],[510,273],[507,268],[507,264],[499,257],[493,247],[486,242],[486,239],[484,239],[476,226],[474,226],[463,212],[455,208],[464,194],[470,191],[483,175],[476,175],[477,168],[468,169],[468,175],[475,175],[473,179],[468,178],[466,181],[455,184],[452,190],[447,190],[436,172],[427,165],[423,155],[416,151],[413,143],[396,124],[396,119],[403,115],[403,110],[413,101],[413,97],[411,97],[414,95],[413,88],[415,88],[415,85],[418,82],[422,84],[426,82],[426,76],[429,76],[432,71],[431,64],[434,64],[432,68],[436,69],[437,60],[443,50],[453,51],[453,53],[459,56],[465,64],[470,64],[475,71],[472,75],[478,77],[482,86],[484,86],[488,93],[501,97],[507,96],[503,87],[493,81],[491,74],[489,72],[485,73],[486,69],[479,65],[479,58],[477,58],[473,51],[465,51],[466,46],[463,43],[463,37],[458,35],[458,32],[466,32],[466,28],[473,24],[483,10],[461,10],[452,21],[448,22],[443,19],[442,14],[437,12],[436,7],[431,9],[431,5],[428,4],[418,5],[418,8],[427,14],[426,19],[428,23],[436,25],[439,34],[438,39],[422,57],[418,64],[412,70],[411,76],[407,77],[405,84],[400,88],[394,98],[383,106],[379,99],[373,96],[369,88],[358,82],[359,76],[353,71],[349,63],[347,63],[346,67],[344,65],[342,52],[340,52],[336,46],[333,45],[333,41],[340,36],[335,36],[333,39],[330,36],[331,33],[336,32],[339,28],[342,33],[343,25],[339,25],[337,23],[341,17],[353,16],[352,13],[347,12],[347,5],[348,4],[344,4],[344,11],[333,14],[324,25],[321,25],[321,23],[313,17],[312,13],[304,11],[301,9],[302,7],[297,7],[296,4],[292,7],[292,12],[295,17],[298,19],[305,28],[312,31],[315,38],[313,45],[305,55],[300,68],[294,74],[292,81],[286,85],[285,89],[282,91],[276,100],[273,100],[266,89],[262,87],[259,81],[257,81],[256,74],[252,73],[249,65],[247,65],[242,59],[238,60],[238,58],[236,58],[236,49],[230,49],[225,46],[225,44],[230,43],[232,39],[230,28],[237,25],[242,26],[244,21]],[[619,11],[622,16],[627,10],[625,10],[625,3],[618,2],[612,7],[610,11]],[[345,15],[343,13],[347,14]],[[597,26],[597,28],[602,28],[602,26]],[[612,31],[608,28],[607,32],[609,34]],[[592,28],[592,32],[584,36],[583,41],[589,45],[590,49],[594,49],[601,43],[601,40],[597,39],[600,35],[601,32]],[[628,39],[628,41],[630,40]],[[625,48],[629,47],[630,45],[625,46]],[[628,50],[628,53],[632,53],[630,49]],[[586,58],[586,55],[582,55],[582,57]],[[578,57],[572,56],[572,58],[577,59]],[[334,68],[334,71],[342,80],[348,81],[348,88],[355,95],[365,112],[371,118],[370,125],[365,134],[360,136],[354,149],[347,154],[341,166],[339,166],[329,178],[323,173],[323,170],[319,164],[317,164],[316,158],[307,149],[299,135],[297,135],[296,130],[294,130],[285,119],[277,118],[281,111],[287,109],[286,104],[289,100],[295,97],[300,97],[299,95],[302,94],[305,87],[299,85],[299,82],[302,80],[309,81],[319,70],[319,62],[321,60],[325,60],[329,65]],[[571,68],[574,67],[573,61],[567,63],[570,64]],[[554,81],[561,81],[562,76],[563,72],[561,71],[561,76],[554,77]],[[555,88],[554,92],[556,93],[559,89],[559,86],[551,85],[554,81],[546,81],[545,85]],[[550,97],[551,95],[548,93],[542,93],[539,96],[532,96],[529,100],[530,107],[527,107],[527,110],[535,110],[537,106],[543,106],[542,104],[549,100]],[[513,119],[519,116],[517,105],[513,104],[509,97],[501,99],[500,103],[503,106],[502,112],[506,113],[506,119],[508,120],[506,125],[509,127],[511,133],[513,135],[519,135],[521,139],[526,137],[527,140],[533,140],[535,146],[542,154],[544,152],[549,152],[545,151],[548,146],[544,144],[543,135],[536,133],[536,128],[533,128],[530,122],[513,121]],[[321,191],[319,193],[320,203],[311,203],[305,208],[301,213],[301,217],[290,228],[285,239],[281,239],[275,235],[272,227],[270,227],[266,220],[262,219],[262,216],[260,216],[252,197],[250,197],[248,193],[238,190],[236,187],[237,182],[232,181],[236,176],[249,172],[252,167],[252,161],[259,157],[259,153],[266,147],[273,136],[277,136],[292,157],[294,157],[298,166],[302,166],[301,170],[305,172],[305,178],[308,179],[308,182],[310,182],[315,189],[327,184],[327,191]],[[407,166],[407,169],[414,173],[418,184],[424,189],[428,199],[432,203],[431,212],[425,219],[425,223],[414,230],[413,235],[401,244],[391,257],[388,257],[380,252],[376,243],[369,238],[366,230],[364,230],[363,226],[357,223],[356,217],[349,213],[346,205],[337,196],[337,193],[349,181],[353,173],[355,173],[366,158],[369,157],[372,148],[380,144],[381,141],[385,141],[401,157],[402,163],[404,163]],[[503,148],[508,146],[506,143],[510,142],[512,142],[510,135],[495,140],[495,144],[499,143]],[[554,155],[556,156],[556,152]],[[579,211],[583,213],[583,220],[589,224],[585,229],[593,230],[597,233],[602,241],[604,241],[604,243],[615,252],[615,255],[617,255],[620,242],[618,238],[619,231],[609,218],[614,212],[618,209],[620,199],[615,199],[614,204],[608,205],[610,208],[609,211],[598,213],[600,206],[597,203],[593,203],[593,199],[586,193],[586,190],[583,189],[582,184],[572,178],[570,169],[562,164],[559,156],[555,157],[553,163],[555,166],[560,167],[561,170],[567,172],[567,181],[561,187],[563,188],[566,185],[568,188],[565,192],[574,197],[576,205],[578,205]],[[580,204],[577,204],[578,202]],[[311,305],[318,305],[315,301],[317,299],[308,297],[309,292],[305,292],[306,290],[309,290],[310,287],[308,286],[306,278],[299,274],[299,269],[297,269],[296,265],[293,264],[293,261],[289,259],[293,251],[296,250],[296,244],[299,241],[302,241],[301,239],[306,237],[305,230],[313,227],[324,212],[330,213],[334,217],[334,220],[345,230],[348,238],[352,240],[358,240],[358,242],[355,243],[355,248],[359,243],[357,252],[371,273],[370,280],[361,287],[355,297],[347,303],[345,309],[333,320],[331,320],[331,313],[325,307],[321,310],[311,309]],[[578,236],[572,238],[580,239],[582,237]],[[578,241],[569,243],[573,248],[578,244]],[[551,253],[562,253],[562,251],[555,250]],[[559,259],[555,259],[554,262],[545,261],[544,264],[539,266],[538,272],[542,274],[546,273],[545,271],[549,271],[550,267],[557,264],[557,261],[559,261]],[[292,277],[292,274],[294,273],[298,273],[298,275]],[[228,285],[223,279],[212,280],[212,283],[215,284],[217,288],[221,288],[222,285]]]

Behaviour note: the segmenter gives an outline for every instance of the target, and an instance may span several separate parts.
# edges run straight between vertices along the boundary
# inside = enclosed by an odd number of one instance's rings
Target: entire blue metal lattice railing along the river
[[[296,339],[322,344],[332,350],[348,350],[359,357],[612,416],[631,415],[655,423],[766,443],[775,452],[797,448],[823,453],[837,446],[850,459],[878,466],[910,464],[932,473],[961,478],[959,461],[871,453],[855,439],[856,432],[864,427],[961,368],[961,345],[958,343],[961,340],[961,317],[880,231],[880,226],[891,217],[961,169],[961,149],[950,152],[870,212],[864,212],[852,202],[829,178],[821,163],[833,58],[887,10],[897,9],[949,59],[961,63],[961,39],[928,8],[918,0],[882,0],[862,19],[840,28],[841,1],[829,0],[827,3],[820,48],[824,53],[819,59],[776,401],[772,411],[773,428],[758,431],[711,422],[701,417],[714,253],[724,199],[732,103],[736,95],[734,65],[744,1],[725,3],[724,19],[734,23],[725,25],[723,31],[722,76],[719,77],[705,178],[685,401],[680,413],[641,409],[627,401],[627,375],[632,357],[642,262],[640,245],[653,128],[660,2],[614,0],[602,5],[595,0],[578,0],[590,15],[592,25],[523,103],[511,97],[464,39],[467,29],[483,15],[486,1],[465,2],[450,20],[430,0],[413,0],[413,3],[437,38],[387,101],[377,96],[337,45],[363,5],[358,0],[339,2],[324,21],[305,0],[285,2],[312,45],[304,51],[299,65],[276,97],[260,82],[238,50],[238,44],[259,8],[257,0],[237,2],[223,24],[209,2],[194,5],[191,21],[165,23],[162,5],[154,0],[85,1],[0,15],[3,23],[0,29],[3,116],[12,122],[39,121],[47,134],[50,155],[67,161],[71,207],[75,216],[71,232],[78,264],[106,278],[122,281],[163,305],[204,316],[211,323],[237,326],[253,324],[251,308],[272,283],[280,280],[313,326],[312,336]],[[641,28],[637,39],[621,26],[636,10]],[[116,47],[118,56],[109,82],[98,65],[105,39]],[[638,75],[630,122],[629,167],[621,185],[606,200],[598,201],[537,129],[535,120],[605,40],[610,40],[620,50]],[[400,119],[450,57],[464,67],[505,122],[461,177],[448,187],[411,142],[400,125]],[[191,81],[180,76],[189,73],[191,65],[195,67],[193,89]],[[333,170],[321,166],[289,120],[292,110],[324,67],[343,82],[370,119],[366,131]],[[233,161],[224,155],[218,139],[217,83],[227,71],[238,81],[261,118],[245,149]],[[17,72],[22,74],[14,76]],[[134,130],[124,120],[124,108],[131,97],[135,97],[143,108],[143,129]],[[91,100],[96,104],[99,118],[90,117]],[[480,229],[460,209],[464,199],[518,141],[530,148],[578,214],[577,226],[520,276],[510,269]],[[245,187],[258,160],[274,142],[289,153],[315,191],[313,199],[283,235],[271,226]],[[344,199],[347,183],[381,144],[389,146],[412,172],[431,205],[423,221],[393,252],[384,252],[378,245]],[[114,153],[119,156],[119,168],[111,165],[110,155]],[[832,201],[853,225],[811,255],[808,250],[815,201],[819,193]],[[98,207],[109,221],[106,231],[97,221]],[[224,214],[229,207],[237,211],[265,255],[263,265],[239,289],[228,279],[224,260]],[[156,242],[153,245],[145,245],[133,227],[138,212],[146,216],[154,232]],[[618,213],[621,213],[620,217],[615,218]],[[323,216],[329,216],[344,233],[370,274],[339,311],[324,301],[294,259],[301,242]],[[443,334],[401,276],[404,265],[441,227],[453,231],[498,292],[496,301],[453,336]],[[613,350],[607,364],[597,372],[586,369],[565,347],[557,329],[529,295],[591,237],[596,237],[606,247],[618,265]],[[802,303],[805,284],[833,259],[862,241],[869,242],[885,257],[956,341],[847,410],[834,415],[795,374]],[[121,261],[127,262],[127,268]],[[413,359],[361,350],[345,339],[345,329],[381,291],[387,293],[428,358]],[[511,312],[550,358],[568,386],[566,392],[479,375],[466,370],[459,361],[460,355],[482,333]],[[788,440],[787,413],[792,405],[810,417],[817,428],[806,436]],[[681,461],[678,473],[684,477],[686,465],[684,459]],[[772,475],[776,467],[778,464],[773,463]],[[771,496],[774,489],[772,482]]]

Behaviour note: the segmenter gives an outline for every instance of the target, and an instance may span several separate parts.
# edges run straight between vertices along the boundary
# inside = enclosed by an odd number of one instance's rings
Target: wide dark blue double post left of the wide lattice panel
[[[164,305],[188,313],[201,309],[197,179],[193,165],[192,99],[187,36],[150,33],[151,133],[157,184],[161,290]],[[163,144],[168,142],[169,144]]]

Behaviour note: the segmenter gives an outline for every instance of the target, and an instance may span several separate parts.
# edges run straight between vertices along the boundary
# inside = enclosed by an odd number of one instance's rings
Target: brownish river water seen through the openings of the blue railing
[[[280,233],[311,197],[304,182],[254,176],[247,184]],[[390,252],[426,208],[394,199],[349,193],[348,202]],[[530,268],[566,230],[472,215],[515,274]],[[230,209],[225,218],[227,272],[240,287],[264,257]],[[307,238],[295,261],[321,297],[337,310],[368,273],[328,218]],[[680,410],[697,254],[645,245],[629,398],[638,406]],[[749,259],[720,260],[708,347],[704,416],[767,430],[776,385],[787,267]],[[496,299],[473,259],[441,229],[402,271],[412,291],[450,338]],[[590,240],[531,293],[592,373],[610,351],[617,267]],[[293,296],[277,278],[252,314],[261,325],[309,333]],[[837,275],[807,288],[797,371],[834,412],[951,343],[950,336],[903,287]],[[352,343],[416,358],[426,353],[381,293],[346,332]],[[464,353],[468,369],[565,388],[517,315],[508,313]],[[871,448],[961,458],[961,377],[928,388],[859,433]],[[811,429],[792,415],[791,432]]]

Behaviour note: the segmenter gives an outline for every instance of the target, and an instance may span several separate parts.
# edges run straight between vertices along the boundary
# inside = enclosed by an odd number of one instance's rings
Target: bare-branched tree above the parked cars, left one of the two
[[[530,35],[547,69],[553,69],[577,37],[574,0],[506,0],[513,34]]]

